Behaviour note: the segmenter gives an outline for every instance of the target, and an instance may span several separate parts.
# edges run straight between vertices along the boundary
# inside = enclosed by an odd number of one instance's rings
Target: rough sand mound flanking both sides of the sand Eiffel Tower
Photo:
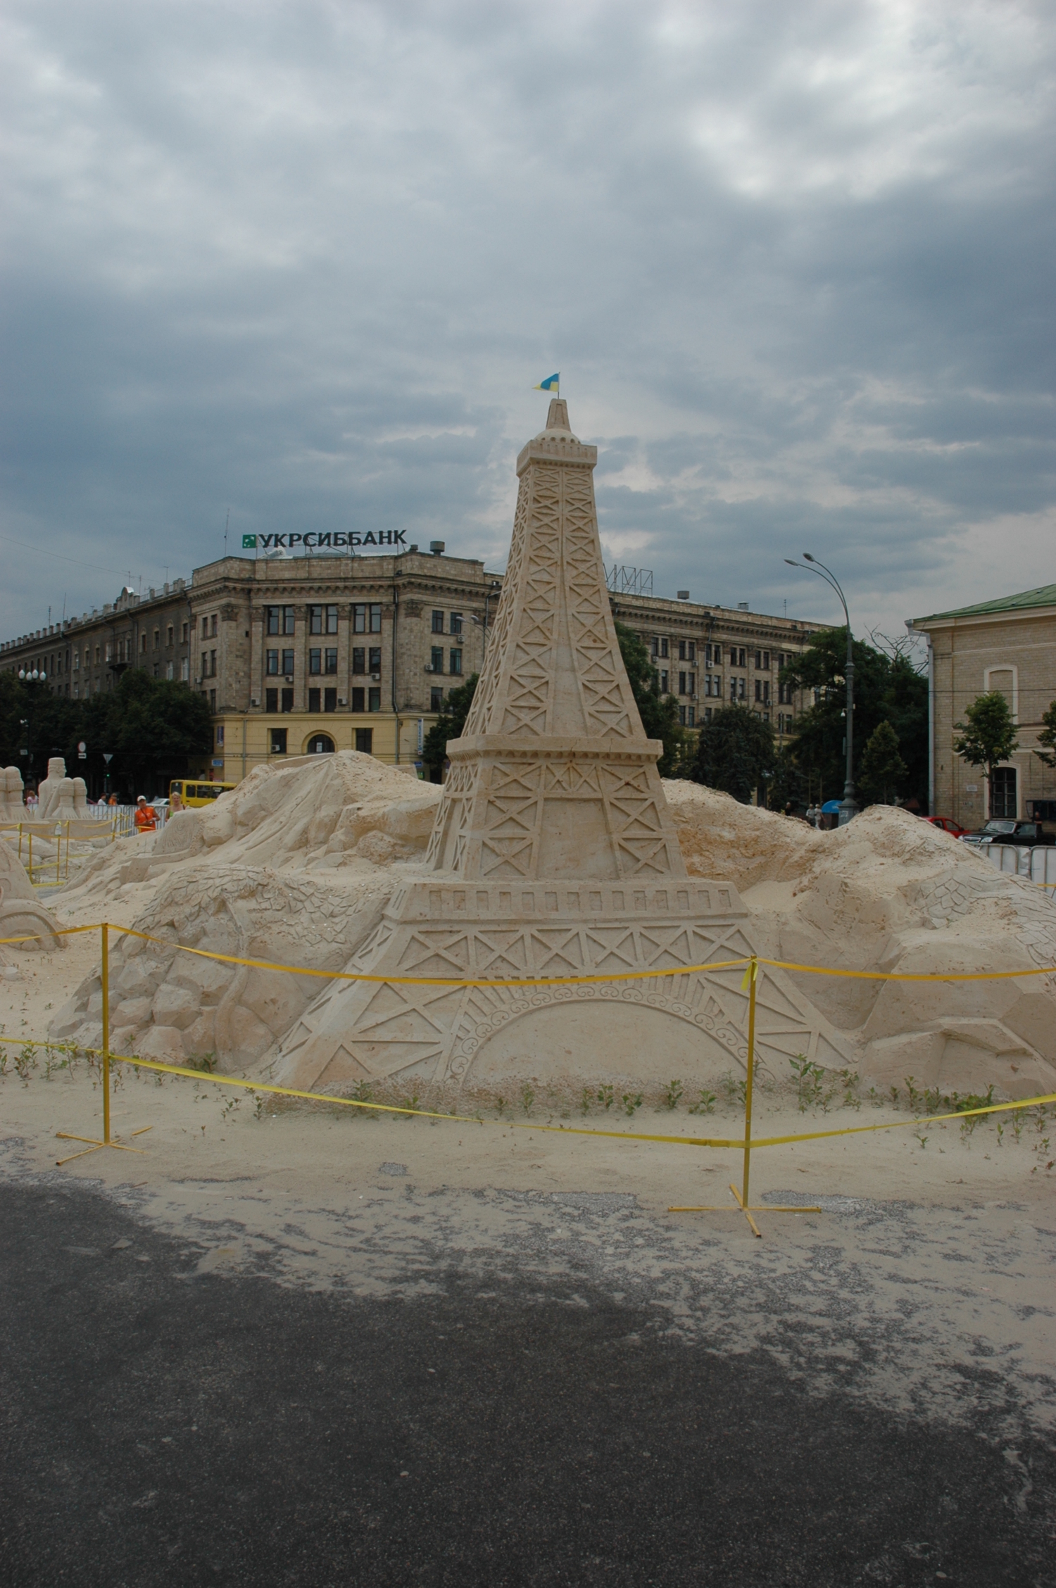
[[[665,783],[692,875],[734,883],[761,953],[842,970],[978,972],[1056,964],[1056,905],[905,811],[873,807],[818,834],[694,783]],[[403,880],[422,875],[440,791],[370,756],[259,767],[157,838],[111,845],[68,894],[138,904],[114,951],[114,1043],[145,1056],[248,1064],[291,1029],[311,977],[195,961],[213,953],[338,970]],[[114,853],[118,851],[118,853]],[[1056,1089],[1056,977],[883,983],[794,972],[869,1083],[1031,1096]],[[98,978],[52,1026],[98,1042]]]

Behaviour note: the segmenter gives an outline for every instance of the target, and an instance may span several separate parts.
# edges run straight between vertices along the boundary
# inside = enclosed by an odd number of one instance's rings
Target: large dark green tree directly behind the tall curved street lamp
[[[813,799],[838,799],[846,777],[846,629],[824,629],[794,662],[781,669],[781,683],[818,691],[818,702],[800,711],[791,753],[810,781]],[[927,802],[927,680],[908,656],[854,640],[854,780],[865,745],[881,723],[889,723],[905,762],[904,794]]]

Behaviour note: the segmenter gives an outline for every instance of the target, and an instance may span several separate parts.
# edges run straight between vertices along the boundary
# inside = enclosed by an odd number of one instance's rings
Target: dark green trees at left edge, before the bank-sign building
[[[87,761],[78,757],[81,740]],[[70,777],[84,773],[102,789],[106,753],[111,788],[125,796],[159,792],[211,748],[208,702],[186,684],[130,667],[116,689],[67,700],[0,673],[0,762],[19,767],[27,783],[44,777],[49,756],[64,756]]]

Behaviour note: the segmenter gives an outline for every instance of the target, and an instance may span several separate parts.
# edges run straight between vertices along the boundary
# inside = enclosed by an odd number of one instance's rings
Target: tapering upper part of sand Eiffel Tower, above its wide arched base
[[[597,448],[553,399],[518,457],[510,564],[430,862],[465,878],[667,878],[686,867],[608,605]]]

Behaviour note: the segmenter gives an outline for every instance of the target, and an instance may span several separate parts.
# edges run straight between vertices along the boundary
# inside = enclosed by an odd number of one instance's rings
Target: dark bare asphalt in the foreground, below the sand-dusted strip
[[[1053,1451],[999,1418],[886,1415],[581,1282],[370,1301],[198,1255],[0,1186],[6,1588],[1056,1585]]]

